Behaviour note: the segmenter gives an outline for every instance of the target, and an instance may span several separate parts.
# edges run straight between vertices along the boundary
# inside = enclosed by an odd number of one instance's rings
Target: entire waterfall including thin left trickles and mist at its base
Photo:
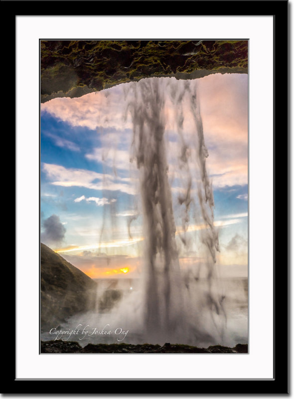
[[[234,345],[238,341],[226,328],[226,301],[218,276],[218,231],[197,81],[153,77],[125,84],[122,93],[122,124],[132,127],[130,176],[126,178],[125,167],[124,179],[133,186],[138,182],[132,187],[135,200],[125,233],[133,237],[132,223],[140,214],[140,278],[127,288],[124,278],[110,288],[98,282],[96,311],[77,315],[69,324],[119,328],[128,331],[124,343],[131,344]],[[102,141],[106,154],[120,154],[113,137]],[[129,136],[123,139],[125,144]],[[108,165],[116,176],[119,161],[118,155]],[[107,207],[100,241],[105,233],[115,236],[115,224],[109,231],[115,216]],[[112,298],[114,291],[120,295]],[[88,339],[117,343],[115,334]]]

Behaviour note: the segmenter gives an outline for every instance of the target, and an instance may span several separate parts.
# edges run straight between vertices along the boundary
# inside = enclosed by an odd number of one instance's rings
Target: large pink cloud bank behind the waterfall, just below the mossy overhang
[[[168,85],[182,87],[185,83],[174,78],[166,78],[165,82],[167,93]],[[191,81],[191,84],[198,86],[204,138],[209,152],[206,166],[208,175],[212,177],[213,187],[248,184],[247,83],[246,74],[213,74],[196,79],[194,83]],[[79,98],[53,99],[41,104],[41,109],[73,126],[97,129],[103,150],[95,148],[86,158],[111,168],[129,170],[132,123],[130,115],[124,122],[127,105],[124,89],[132,87],[131,82]],[[131,94],[132,90],[129,90],[128,99]],[[172,140],[179,139],[175,112],[176,107],[167,95],[164,110],[166,137],[169,136]],[[183,115],[185,139],[191,145],[195,141],[195,125],[190,113],[190,104],[185,97]],[[176,172],[179,172],[176,159],[180,150],[179,144],[170,142],[167,149],[170,173],[175,171],[175,177]],[[54,184],[57,185],[58,182]],[[109,188],[116,189],[115,186]]]

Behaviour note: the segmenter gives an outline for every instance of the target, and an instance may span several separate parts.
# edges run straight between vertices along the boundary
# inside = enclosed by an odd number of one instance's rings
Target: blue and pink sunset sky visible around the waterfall
[[[160,79],[183,84],[175,78]],[[224,276],[247,276],[247,79],[247,74],[196,79],[209,154],[206,168],[214,192],[214,224],[219,233],[217,264]],[[132,159],[132,121],[126,107],[126,99],[132,95],[129,87],[130,83],[124,83],[41,104],[41,242],[92,278],[137,277],[143,263],[139,177]],[[184,132],[193,137],[188,108],[183,101]],[[164,136],[176,242],[181,265],[192,267],[204,261],[197,238],[203,226],[191,214],[190,244],[181,245],[176,197],[183,190],[184,179],[177,167],[174,113],[167,93]],[[195,190],[192,195],[196,198]],[[195,201],[195,213],[196,207]]]

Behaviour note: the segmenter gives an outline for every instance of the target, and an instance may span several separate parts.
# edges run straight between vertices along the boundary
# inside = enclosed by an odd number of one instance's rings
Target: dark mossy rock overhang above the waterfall
[[[41,102],[151,76],[247,73],[247,40],[42,40]]]

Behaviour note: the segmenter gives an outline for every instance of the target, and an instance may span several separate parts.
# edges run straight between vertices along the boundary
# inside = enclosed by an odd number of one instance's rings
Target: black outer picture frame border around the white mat
[[[58,5],[58,6],[57,6]],[[74,5],[74,6],[73,6]],[[168,6],[167,6],[168,5]],[[142,8],[141,8],[142,6]],[[4,93],[13,104],[13,56],[16,15],[117,15],[136,14],[139,3],[126,1],[1,1],[2,44],[9,54],[9,78],[5,79]],[[139,8],[138,8],[139,9]],[[273,15],[274,16],[274,242],[269,243],[274,259],[274,379],[262,380],[16,380],[15,339],[4,344],[5,367],[2,375],[3,394],[287,394],[289,393],[289,132],[288,132],[288,1],[141,1],[144,15]],[[188,11],[187,11],[188,10]],[[46,12],[44,12],[46,11]],[[110,12],[111,11],[111,12]],[[8,26],[8,28],[7,28]],[[15,60],[16,62],[17,60]],[[19,60],[18,60],[19,61]],[[28,62],[23,61],[23,62]],[[265,60],[265,63],[267,60]],[[16,64],[15,64],[16,65]],[[2,68],[3,71],[3,68]],[[16,81],[17,84],[17,81]],[[15,140],[15,136],[14,136]],[[12,140],[13,142],[13,140]],[[13,142],[15,145],[15,141]],[[261,155],[262,158],[262,155]],[[17,160],[16,160],[17,162]],[[17,176],[16,176],[17,179]],[[15,193],[17,196],[17,192]],[[281,215],[283,209],[283,215]],[[285,214],[286,213],[286,214]],[[17,218],[17,213],[15,213]],[[267,248],[268,249],[268,248]],[[261,250],[264,250],[261,248]],[[15,259],[16,261],[16,259]],[[9,277],[15,281],[15,270]],[[14,287],[15,288],[15,287]],[[17,296],[17,292],[15,292]],[[16,331],[15,296],[6,303],[4,320],[9,331]],[[261,343],[262,345],[262,343]],[[7,362],[7,364],[6,364]],[[118,381],[118,380],[115,380]]]

